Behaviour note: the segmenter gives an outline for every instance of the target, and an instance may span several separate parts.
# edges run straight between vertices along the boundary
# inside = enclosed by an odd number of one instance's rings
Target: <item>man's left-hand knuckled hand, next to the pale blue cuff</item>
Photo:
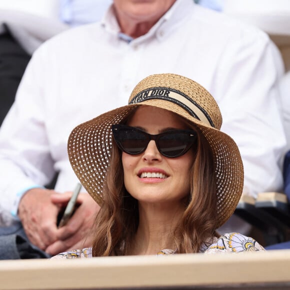
[[[53,190],[29,189],[21,198],[18,216],[30,242],[45,250],[57,240],[56,218],[59,206],[51,201]]]

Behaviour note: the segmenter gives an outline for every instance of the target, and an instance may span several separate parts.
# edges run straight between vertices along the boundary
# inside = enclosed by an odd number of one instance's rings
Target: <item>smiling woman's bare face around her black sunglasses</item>
[[[127,124],[150,134],[188,129],[179,116],[151,106],[140,106]],[[189,172],[193,157],[192,149],[179,157],[165,157],[158,151],[154,140],[150,140],[140,154],[122,152],[125,187],[139,202],[165,204],[181,201],[190,191]],[[159,177],[147,176],[147,172],[159,173]]]

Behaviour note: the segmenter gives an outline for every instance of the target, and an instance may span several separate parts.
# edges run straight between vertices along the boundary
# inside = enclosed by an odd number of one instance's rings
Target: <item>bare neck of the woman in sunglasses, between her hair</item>
[[[156,254],[162,249],[175,249],[174,229],[179,222],[184,207],[164,208],[164,206],[140,205],[139,225],[130,254]]]

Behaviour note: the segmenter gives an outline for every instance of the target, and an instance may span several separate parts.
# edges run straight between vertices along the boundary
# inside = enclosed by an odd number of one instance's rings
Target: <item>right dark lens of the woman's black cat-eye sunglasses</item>
[[[189,133],[164,133],[158,139],[158,147],[164,156],[177,157],[189,149],[194,139],[195,136]]]

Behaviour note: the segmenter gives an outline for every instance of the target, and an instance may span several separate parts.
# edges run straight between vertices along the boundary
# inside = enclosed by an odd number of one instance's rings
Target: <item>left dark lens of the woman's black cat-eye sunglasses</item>
[[[148,138],[134,128],[121,129],[119,131],[119,143],[126,153],[139,154],[147,147]]]

